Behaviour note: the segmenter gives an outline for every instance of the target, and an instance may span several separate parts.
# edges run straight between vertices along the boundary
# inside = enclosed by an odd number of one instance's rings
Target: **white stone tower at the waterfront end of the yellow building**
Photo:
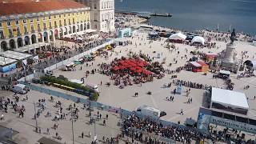
[[[75,0],[90,6],[92,29],[103,32],[114,31],[114,0]]]

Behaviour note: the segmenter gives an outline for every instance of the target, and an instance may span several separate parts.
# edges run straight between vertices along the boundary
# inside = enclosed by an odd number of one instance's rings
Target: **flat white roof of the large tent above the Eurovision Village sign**
[[[213,87],[211,92],[211,106],[213,103],[229,106],[234,109],[240,108],[249,110],[246,94],[232,90],[223,90]]]

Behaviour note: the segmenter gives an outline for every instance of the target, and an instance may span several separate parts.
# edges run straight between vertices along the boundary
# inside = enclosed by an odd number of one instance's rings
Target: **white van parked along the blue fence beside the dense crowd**
[[[150,106],[140,106],[137,109],[138,114],[145,115],[150,118],[160,118],[161,111]]]

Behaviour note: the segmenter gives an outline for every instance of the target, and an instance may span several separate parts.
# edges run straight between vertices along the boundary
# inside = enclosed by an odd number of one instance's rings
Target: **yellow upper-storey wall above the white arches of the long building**
[[[73,15],[74,14],[74,15]],[[43,17],[45,17],[45,20],[43,20]],[[54,14],[50,15],[50,20],[49,20],[49,15],[45,15],[39,18],[39,24],[40,24],[40,29],[43,30],[43,22],[46,22],[46,30],[50,30],[50,25],[49,22],[51,22],[51,27],[52,29],[55,29],[54,27],[54,21],[56,21],[57,26],[59,26],[59,20],[62,21],[62,26],[64,26],[64,19],[66,19],[66,26],[69,26],[69,19],[70,19],[70,25],[73,25],[73,18],[74,18],[74,25],[78,25],[77,22],[81,22],[82,20],[82,25],[84,25],[84,23],[90,22],[90,11],[86,10],[86,11],[82,11],[82,15],[80,14],[80,12],[74,12],[74,13],[66,13],[66,17],[64,17],[64,14],[61,14],[61,18],[59,18],[59,14],[56,14],[56,19],[54,19]],[[30,19],[33,19],[33,26],[34,26],[34,31],[38,32],[38,21],[37,21],[37,17],[35,18],[26,18],[26,28],[27,28],[27,32],[30,34],[31,33],[31,23],[30,23]],[[79,20],[79,21],[78,21]],[[21,35],[24,35],[25,30],[24,30],[24,26],[25,24],[23,24],[23,18],[18,20],[18,26],[19,26],[19,30],[21,32]],[[11,25],[10,28],[13,30],[13,35],[14,37],[17,37],[17,26],[15,23],[15,20],[10,20]],[[80,27],[80,24],[79,24]],[[2,28],[3,28],[3,34],[5,36],[5,38],[9,38],[9,31],[8,31],[8,26],[7,26],[7,21],[3,21],[2,22]]]

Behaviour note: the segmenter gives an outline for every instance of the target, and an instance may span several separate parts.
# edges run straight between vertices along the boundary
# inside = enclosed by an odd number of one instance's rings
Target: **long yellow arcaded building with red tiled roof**
[[[90,29],[90,7],[70,0],[0,2],[1,50],[30,51]]]

